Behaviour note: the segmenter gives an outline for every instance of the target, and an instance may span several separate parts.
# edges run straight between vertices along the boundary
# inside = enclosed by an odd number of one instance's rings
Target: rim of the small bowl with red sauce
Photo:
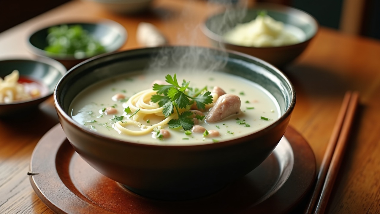
[[[62,78],[65,75],[65,73],[67,72],[66,67],[63,66],[60,62],[58,62],[55,59],[51,59],[51,58],[47,58],[47,57],[38,57],[37,59],[28,59],[28,58],[22,58],[22,57],[20,57],[20,58],[4,58],[4,59],[0,59],[0,64],[2,62],[21,62],[21,63],[22,62],[34,62],[34,63],[37,62],[37,63],[46,64],[46,65],[49,65],[50,67],[54,67],[55,69],[57,69],[61,73],[60,78]],[[57,83],[55,83],[55,85],[57,85]],[[55,89],[55,87],[54,87],[54,89]],[[2,103],[0,105],[1,106],[13,106],[13,105],[19,105],[19,104],[24,104],[24,103],[28,103],[28,102],[35,102],[38,100],[44,100],[54,93],[54,89],[49,90],[49,93],[47,93],[46,95],[36,97],[35,99],[28,99],[28,100],[24,100],[24,101],[11,102],[11,103]]]

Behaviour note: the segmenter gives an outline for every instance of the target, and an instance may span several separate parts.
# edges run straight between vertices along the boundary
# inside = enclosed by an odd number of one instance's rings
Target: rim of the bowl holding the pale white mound
[[[301,10],[301,9],[298,9],[298,8],[295,8],[295,7],[292,7],[292,6],[281,5],[281,4],[277,4],[277,3],[269,3],[269,2],[260,2],[260,3],[255,3],[255,5],[253,7],[247,8],[247,11],[249,11],[249,10],[252,11],[252,10],[258,10],[258,9],[265,9],[265,8],[268,8],[268,10],[279,11],[279,12],[283,12],[284,10],[291,10],[291,11],[296,11],[297,13],[303,13],[303,14],[309,16],[313,20],[313,24],[315,25],[315,32],[310,36],[310,38],[307,38],[306,40],[303,40],[302,42],[298,42],[298,43],[295,43],[295,44],[292,44],[292,45],[265,46],[265,47],[236,45],[236,44],[233,44],[233,43],[226,42],[225,39],[223,39],[223,37],[221,35],[215,34],[214,32],[212,32],[206,26],[206,22],[209,19],[211,19],[211,18],[213,18],[213,17],[215,17],[217,15],[223,14],[224,11],[218,12],[218,13],[214,13],[214,14],[211,14],[210,16],[208,16],[202,22],[200,28],[201,28],[201,31],[203,32],[203,34],[206,35],[206,37],[211,38],[212,40],[215,40],[216,42],[218,42],[220,44],[226,44],[226,45],[229,45],[229,46],[235,46],[235,47],[239,47],[239,48],[252,48],[252,49],[258,49],[258,50],[269,50],[269,49],[272,49],[272,48],[277,48],[277,49],[279,49],[279,48],[287,48],[287,47],[298,46],[300,44],[308,43],[308,42],[310,42],[310,40],[312,40],[315,37],[315,35],[317,35],[317,33],[318,33],[319,29],[320,29],[320,24],[319,24],[318,20],[314,16],[312,16],[310,13],[307,13],[304,10]]]

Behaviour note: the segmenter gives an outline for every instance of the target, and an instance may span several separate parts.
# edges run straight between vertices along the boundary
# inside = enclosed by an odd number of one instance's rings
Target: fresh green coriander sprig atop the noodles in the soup
[[[190,82],[185,80],[179,85],[176,74],[173,77],[168,74],[165,79],[169,85],[158,85],[155,83],[153,90],[157,91],[157,94],[153,95],[150,100],[163,107],[162,113],[165,117],[169,117],[174,113],[174,109],[176,109],[178,119],[170,120],[168,122],[169,128],[182,126],[185,130],[191,129],[194,125],[191,118],[193,113],[189,111],[179,113],[178,108],[186,109],[195,102],[198,109],[205,109],[206,104],[212,103],[211,92],[206,91],[207,87],[201,90],[190,88],[188,87]]]

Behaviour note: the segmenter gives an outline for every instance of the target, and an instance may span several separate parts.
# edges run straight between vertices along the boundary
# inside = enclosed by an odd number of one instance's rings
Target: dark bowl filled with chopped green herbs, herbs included
[[[36,30],[28,38],[28,47],[70,69],[90,57],[119,50],[126,39],[125,28],[111,20],[68,22]]]

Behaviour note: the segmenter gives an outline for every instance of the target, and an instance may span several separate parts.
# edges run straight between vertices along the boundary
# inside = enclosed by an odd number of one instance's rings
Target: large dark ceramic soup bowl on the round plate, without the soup
[[[190,57],[189,53],[195,53],[194,58],[184,64],[183,59]],[[158,63],[160,68],[158,64],[148,66],[158,58],[163,60]],[[70,117],[69,105],[87,86],[136,70],[152,72],[165,68],[177,68],[178,72],[184,68],[212,69],[259,83],[279,103],[281,117],[247,136],[187,146],[120,141],[91,131]],[[66,73],[54,92],[54,104],[63,131],[87,163],[133,192],[164,200],[211,194],[255,169],[285,133],[295,101],[290,81],[267,62],[241,53],[185,46],[129,50],[90,59]]]

